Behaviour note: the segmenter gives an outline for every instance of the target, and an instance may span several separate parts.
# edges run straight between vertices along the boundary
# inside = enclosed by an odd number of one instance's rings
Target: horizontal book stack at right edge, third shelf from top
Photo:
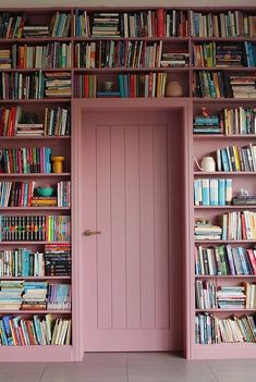
[[[256,98],[256,74],[230,76],[230,86],[234,98]]]

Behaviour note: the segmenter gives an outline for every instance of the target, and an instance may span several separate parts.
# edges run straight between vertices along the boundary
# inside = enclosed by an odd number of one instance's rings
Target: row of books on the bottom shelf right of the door
[[[253,316],[219,318],[210,313],[195,317],[196,344],[256,342],[256,322]]]

